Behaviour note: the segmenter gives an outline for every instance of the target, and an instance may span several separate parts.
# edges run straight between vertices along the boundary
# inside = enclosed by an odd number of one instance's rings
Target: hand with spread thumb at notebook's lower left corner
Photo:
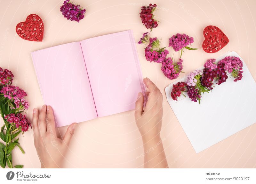
[[[34,108],[32,126],[41,168],[62,167],[76,125],[76,123],[69,125],[63,139],[58,138],[52,107],[43,105],[40,111]]]

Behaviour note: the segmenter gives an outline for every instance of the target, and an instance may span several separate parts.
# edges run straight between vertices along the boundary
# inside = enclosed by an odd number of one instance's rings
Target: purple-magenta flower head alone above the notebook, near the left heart
[[[75,5],[69,0],[64,1],[63,4],[60,7],[60,11],[65,18],[77,22],[84,18],[85,9],[80,8],[80,5]]]

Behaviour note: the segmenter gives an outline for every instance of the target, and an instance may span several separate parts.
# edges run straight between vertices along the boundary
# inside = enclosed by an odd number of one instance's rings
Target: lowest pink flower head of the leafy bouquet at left
[[[26,115],[18,114],[8,114],[4,117],[8,123],[15,125],[16,128],[25,132],[28,131],[28,128],[32,128],[29,120],[26,118]]]

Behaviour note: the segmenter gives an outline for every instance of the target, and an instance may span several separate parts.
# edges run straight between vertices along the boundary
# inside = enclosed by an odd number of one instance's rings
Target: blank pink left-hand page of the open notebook
[[[31,53],[44,103],[57,126],[97,117],[80,42]]]

